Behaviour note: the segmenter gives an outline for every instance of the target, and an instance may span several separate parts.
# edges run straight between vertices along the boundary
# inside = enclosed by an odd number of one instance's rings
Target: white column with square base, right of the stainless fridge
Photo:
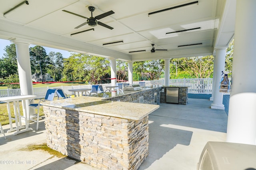
[[[220,80],[223,77],[222,71],[225,70],[225,58],[226,58],[226,48],[216,49],[216,57],[214,57],[214,99],[211,104],[212,109],[225,109],[223,102],[223,93],[219,92]]]

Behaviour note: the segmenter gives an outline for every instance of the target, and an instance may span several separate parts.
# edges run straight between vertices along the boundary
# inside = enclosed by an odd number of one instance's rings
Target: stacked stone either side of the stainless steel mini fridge
[[[186,105],[188,104],[188,87],[178,87],[179,88],[179,103]],[[160,92],[160,103],[166,103],[166,87],[162,87],[164,92]]]

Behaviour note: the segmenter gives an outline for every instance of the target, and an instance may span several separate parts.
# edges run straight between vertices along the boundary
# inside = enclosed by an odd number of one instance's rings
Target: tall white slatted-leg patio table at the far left
[[[16,132],[14,132],[13,135],[17,135],[19,133],[23,133],[23,132],[32,130],[32,128],[28,127],[28,116],[29,115],[28,115],[27,109],[26,109],[26,100],[31,100],[34,98],[36,98],[36,96],[33,96],[33,95],[10,96],[10,97],[0,98],[1,102],[6,102],[6,104],[7,104],[9,123],[10,123],[10,130],[7,131],[8,133],[12,132],[12,131],[16,131]],[[20,115],[20,105],[19,105],[20,100],[22,101],[23,116]],[[13,102],[15,118],[11,117],[10,102]],[[22,126],[21,118],[25,119],[25,129],[24,129],[24,126]],[[15,120],[15,123],[16,123],[15,128],[12,127],[12,120]],[[23,130],[20,130],[20,129],[23,129]]]

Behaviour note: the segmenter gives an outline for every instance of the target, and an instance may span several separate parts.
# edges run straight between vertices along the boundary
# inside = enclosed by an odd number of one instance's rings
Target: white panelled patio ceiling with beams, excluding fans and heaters
[[[1,39],[20,38],[35,45],[140,61],[212,55],[214,47],[226,47],[234,36],[234,0],[28,0],[29,5],[23,4],[6,18],[3,16],[21,2],[0,2]],[[96,8],[94,17],[114,11],[99,20],[114,29],[88,24],[75,29],[86,19],[62,11],[89,18],[88,6]],[[148,15],[177,6],[182,7]],[[71,35],[92,28],[94,31]],[[193,30],[182,31],[185,29]],[[182,32],[169,33],[174,31]],[[116,41],[122,42],[103,45]],[[151,44],[167,51],[151,53]],[[129,53],[140,50],[146,51]]]

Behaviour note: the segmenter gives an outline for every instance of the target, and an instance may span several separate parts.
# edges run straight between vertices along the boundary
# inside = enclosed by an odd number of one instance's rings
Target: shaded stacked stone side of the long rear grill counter
[[[144,104],[160,104],[160,90],[162,88],[152,88],[148,90],[140,90],[135,91],[129,94],[124,94],[121,96],[115,96],[112,98],[107,98],[105,100],[111,100],[111,101],[120,101],[120,102],[132,102],[132,103],[139,103],[139,98],[143,96],[144,98]],[[154,94],[156,93],[156,102]]]

